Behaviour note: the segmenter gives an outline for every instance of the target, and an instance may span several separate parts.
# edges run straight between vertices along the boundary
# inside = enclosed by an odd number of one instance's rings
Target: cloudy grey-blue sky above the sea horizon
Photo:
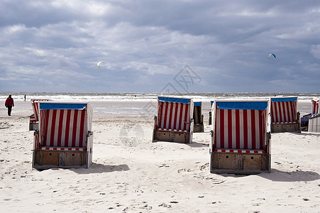
[[[0,1],[2,92],[319,90],[319,0]]]

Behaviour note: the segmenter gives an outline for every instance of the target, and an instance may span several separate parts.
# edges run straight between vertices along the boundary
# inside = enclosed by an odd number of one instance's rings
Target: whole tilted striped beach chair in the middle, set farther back
[[[158,116],[155,116],[153,141],[191,143],[193,110],[192,99],[158,97]]]

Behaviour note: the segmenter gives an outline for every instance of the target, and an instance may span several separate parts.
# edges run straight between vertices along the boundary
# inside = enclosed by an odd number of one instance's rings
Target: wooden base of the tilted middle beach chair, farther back
[[[189,137],[189,132],[153,130],[153,142],[167,141],[176,143],[189,143]]]

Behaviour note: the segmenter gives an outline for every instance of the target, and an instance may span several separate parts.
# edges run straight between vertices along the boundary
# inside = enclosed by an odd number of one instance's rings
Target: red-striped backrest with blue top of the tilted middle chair
[[[158,97],[157,125],[160,129],[190,131],[192,99]]]

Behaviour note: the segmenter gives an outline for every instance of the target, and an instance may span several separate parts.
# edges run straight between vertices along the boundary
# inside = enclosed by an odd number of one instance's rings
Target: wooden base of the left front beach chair
[[[33,151],[33,168],[88,168],[87,151]]]

